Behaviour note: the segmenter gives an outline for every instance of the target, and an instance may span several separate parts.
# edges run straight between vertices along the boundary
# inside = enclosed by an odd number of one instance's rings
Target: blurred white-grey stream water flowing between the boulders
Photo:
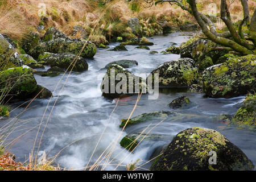
[[[168,36],[150,38],[150,42],[154,42],[154,46],[150,46],[150,51],[160,52],[174,43],[179,46],[189,38],[189,36],[179,34],[173,33]],[[110,48],[117,45],[118,43],[111,43]],[[22,162],[27,160],[38,133],[34,152],[39,150],[39,153],[42,154],[42,151],[45,151],[48,156],[54,156],[60,152],[55,162],[59,163],[61,167],[84,169],[88,163],[90,166],[96,162],[102,152],[108,148],[107,154],[110,154],[110,151],[113,152],[104,160],[100,160],[102,166],[98,169],[104,167],[103,169],[112,170],[115,169],[117,164],[121,164],[117,169],[125,169],[126,164],[135,162],[137,159],[140,159],[137,166],[146,163],[157,155],[161,148],[170,143],[172,138],[180,131],[189,127],[205,127],[220,131],[232,143],[241,148],[256,165],[256,133],[227,127],[225,123],[214,120],[217,114],[236,113],[245,97],[229,99],[207,98],[204,97],[204,94],[190,93],[185,90],[183,92],[174,92],[174,90],[162,89],[157,100],[148,100],[148,95],[144,94],[138,102],[133,117],[151,111],[173,111],[168,107],[168,104],[181,95],[189,97],[196,105],[191,109],[178,110],[180,113],[187,114],[187,117],[168,118],[161,123],[159,123],[160,121],[144,122],[127,127],[121,133],[119,128],[120,121],[122,118],[129,117],[138,96],[121,98],[113,114],[111,114],[117,104],[117,100],[107,100],[101,97],[100,84],[104,73],[106,73],[106,70],[102,68],[111,61],[121,59],[137,60],[138,66],[128,70],[135,75],[140,75],[142,73],[150,73],[159,64],[180,57],[180,55],[163,55],[160,53],[150,55],[150,51],[146,49],[136,49],[136,46],[126,47],[129,51],[98,49],[94,59],[87,60],[89,64],[88,71],[72,73],[67,82],[65,80],[68,76],[65,75],[59,85],[58,82],[63,75],[57,77],[35,76],[38,84],[45,86],[51,92],[56,88],[55,92],[53,92],[54,97],[50,102],[49,100],[36,99],[28,107],[28,110],[19,117],[18,121],[13,121],[16,124],[10,131],[14,131],[9,132],[10,135],[5,143],[9,143],[15,138],[20,138],[15,140],[10,152],[13,152],[16,158]],[[61,90],[64,83],[65,86]],[[58,95],[59,98],[56,101]],[[13,107],[22,103],[16,102]],[[46,109],[48,103],[49,106]],[[53,104],[55,104],[54,108]],[[24,106],[15,109],[10,114],[10,118],[2,119],[0,128],[21,113]],[[46,111],[45,115],[44,111]],[[51,116],[49,117],[50,113]],[[43,115],[44,118],[42,120]],[[38,132],[38,125],[41,121],[43,123]],[[44,130],[46,124],[47,127]],[[119,146],[119,141],[126,134],[141,133],[144,129],[146,129],[145,133],[152,129],[150,134],[158,134],[162,135],[162,137],[157,140],[143,140],[132,154]],[[104,134],[102,134],[103,131]],[[38,149],[42,133],[44,134]],[[98,142],[99,139],[101,139],[100,142]],[[92,155],[94,148],[96,150]],[[143,168],[150,168],[151,163],[145,164]]]

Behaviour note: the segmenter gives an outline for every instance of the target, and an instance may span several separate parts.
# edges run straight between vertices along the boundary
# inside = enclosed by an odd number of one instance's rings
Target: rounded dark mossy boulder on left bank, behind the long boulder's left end
[[[21,47],[25,52],[30,51],[30,49],[36,47],[38,44],[42,43],[40,36],[36,32],[29,32],[24,36],[21,42]]]

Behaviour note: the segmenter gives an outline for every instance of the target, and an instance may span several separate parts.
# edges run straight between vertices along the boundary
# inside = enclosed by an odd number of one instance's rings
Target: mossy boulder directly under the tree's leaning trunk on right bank
[[[199,62],[209,56],[213,63],[216,63],[219,57],[228,53],[228,51],[216,49],[217,44],[211,40],[198,39],[186,47],[181,48],[180,57],[189,57],[195,62]]]

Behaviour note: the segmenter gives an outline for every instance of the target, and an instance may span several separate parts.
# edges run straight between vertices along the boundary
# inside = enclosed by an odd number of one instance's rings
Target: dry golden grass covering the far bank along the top
[[[220,1],[217,0],[199,0],[199,10],[208,14],[208,5],[216,3],[217,13],[220,9]],[[234,21],[242,19],[242,6],[239,0],[228,0],[232,2],[229,7]],[[127,19],[138,16],[141,23],[148,27],[148,22],[186,23],[195,22],[195,19],[187,11],[183,11],[176,5],[168,3],[152,6],[150,9],[145,8],[142,1],[137,3],[127,2],[124,0],[114,0],[106,5],[101,5],[98,1],[93,0],[42,0],[40,3],[46,5],[46,14],[48,17],[47,27],[54,26],[66,34],[72,32],[75,25],[81,27],[93,28],[94,34],[101,35],[105,32],[110,35],[113,31],[127,31]],[[249,0],[249,7],[253,12],[256,2]],[[135,6],[136,5],[136,6]],[[20,39],[28,30],[36,30],[41,22],[39,12],[42,7],[37,0],[3,0],[0,4],[0,33],[9,35],[13,39]],[[42,22],[41,22],[42,23]],[[117,30],[113,30],[115,25],[119,24]],[[217,27],[222,27],[221,22]],[[123,27],[120,28],[120,27]],[[77,35],[79,38],[79,35]]]

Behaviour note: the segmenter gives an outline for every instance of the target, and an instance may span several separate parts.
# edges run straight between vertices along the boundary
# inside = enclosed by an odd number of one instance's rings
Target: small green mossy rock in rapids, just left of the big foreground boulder
[[[160,138],[162,138],[161,135],[131,133],[123,137],[119,144],[121,147],[126,148],[129,151],[133,151],[134,148],[144,140],[156,141]]]

